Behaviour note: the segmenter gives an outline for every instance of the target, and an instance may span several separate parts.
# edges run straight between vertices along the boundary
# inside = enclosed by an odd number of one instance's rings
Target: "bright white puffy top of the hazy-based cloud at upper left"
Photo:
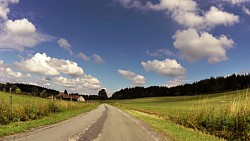
[[[5,23],[6,28],[14,34],[30,34],[36,32],[36,27],[27,19],[8,20]]]

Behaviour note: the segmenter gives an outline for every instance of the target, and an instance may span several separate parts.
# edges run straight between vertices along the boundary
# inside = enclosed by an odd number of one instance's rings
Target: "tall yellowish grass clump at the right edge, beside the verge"
[[[227,140],[250,140],[248,91],[221,107],[202,105],[201,110],[180,117],[177,123],[197,128]],[[176,120],[175,120],[176,121]]]

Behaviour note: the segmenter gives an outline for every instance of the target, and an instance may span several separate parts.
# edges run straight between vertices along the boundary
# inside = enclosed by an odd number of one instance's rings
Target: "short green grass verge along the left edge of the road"
[[[40,126],[58,123],[66,119],[69,119],[71,117],[77,116],[79,114],[89,112],[95,109],[98,105],[99,105],[98,103],[90,103],[90,104],[86,104],[86,107],[82,109],[67,110],[64,112],[56,113],[56,114],[50,114],[44,118],[37,119],[37,120],[31,120],[31,121],[26,121],[26,122],[14,122],[8,125],[0,125],[0,137],[29,131],[33,128],[40,127]]]

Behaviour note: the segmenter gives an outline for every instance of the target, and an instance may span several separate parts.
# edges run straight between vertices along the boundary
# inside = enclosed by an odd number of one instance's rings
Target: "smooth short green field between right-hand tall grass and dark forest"
[[[109,102],[161,115],[179,115],[202,110],[204,106],[213,106],[219,109],[245,93],[246,90],[241,90],[202,96],[152,97]]]

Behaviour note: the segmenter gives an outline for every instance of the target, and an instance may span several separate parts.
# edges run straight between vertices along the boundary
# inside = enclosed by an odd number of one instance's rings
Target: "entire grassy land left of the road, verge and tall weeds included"
[[[99,103],[49,100],[0,92],[0,137],[57,123],[96,108]]]

